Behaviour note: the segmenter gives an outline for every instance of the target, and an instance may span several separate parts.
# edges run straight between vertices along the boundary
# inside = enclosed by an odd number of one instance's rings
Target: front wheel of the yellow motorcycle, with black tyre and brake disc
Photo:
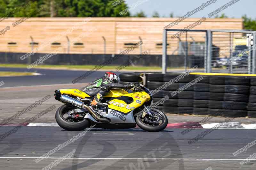
[[[164,130],[168,124],[167,116],[160,110],[153,108],[150,110],[150,115],[142,115],[136,117],[137,125],[149,132],[159,132]]]

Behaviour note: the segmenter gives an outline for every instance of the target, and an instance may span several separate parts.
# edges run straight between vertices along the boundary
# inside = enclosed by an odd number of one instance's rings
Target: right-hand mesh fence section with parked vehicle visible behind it
[[[212,72],[252,73],[252,47],[247,46],[251,31],[212,30]],[[213,47],[214,46],[214,47]],[[219,49],[219,54],[216,51]]]

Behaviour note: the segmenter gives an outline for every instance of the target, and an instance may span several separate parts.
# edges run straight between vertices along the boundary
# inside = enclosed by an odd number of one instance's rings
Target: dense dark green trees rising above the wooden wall
[[[115,1],[33,0],[29,1],[29,5],[23,7],[26,4],[25,0],[0,0],[0,16],[8,14],[9,17],[27,17],[32,14],[32,17],[50,17],[52,5],[54,17],[129,17],[129,12],[124,15],[119,14],[128,8],[127,4],[123,1],[113,6],[112,3]],[[39,10],[40,8],[43,10]]]

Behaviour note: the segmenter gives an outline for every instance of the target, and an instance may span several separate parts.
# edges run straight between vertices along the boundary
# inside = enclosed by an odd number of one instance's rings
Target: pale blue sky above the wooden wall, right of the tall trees
[[[130,6],[137,1],[138,0],[126,0],[126,3],[128,6]],[[135,14],[136,12],[142,10],[147,17],[152,17],[153,11],[157,11],[160,14],[160,17],[169,17],[171,12],[173,12],[174,17],[183,16],[188,11],[192,11],[207,1],[208,0],[148,0],[133,9],[131,14]],[[217,0],[214,4],[207,6],[204,8],[204,10],[201,10],[191,16],[191,18],[202,18],[203,16],[208,17],[208,13],[218,9],[228,2],[230,2],[230,0]],[[240,0],[224,11],[220,12],[220,14],[222,13],[225,13],[229,18],[241,18],[244,14],[246,14],[248,17],[255,19],[256,0]]]

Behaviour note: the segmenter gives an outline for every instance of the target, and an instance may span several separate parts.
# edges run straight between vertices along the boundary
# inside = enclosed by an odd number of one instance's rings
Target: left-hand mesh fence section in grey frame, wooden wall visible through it
[[[197,65],[204,70],[204,59],[207,54],[206,30],[183,31],[166,32],[167,68],[183,71]]]

